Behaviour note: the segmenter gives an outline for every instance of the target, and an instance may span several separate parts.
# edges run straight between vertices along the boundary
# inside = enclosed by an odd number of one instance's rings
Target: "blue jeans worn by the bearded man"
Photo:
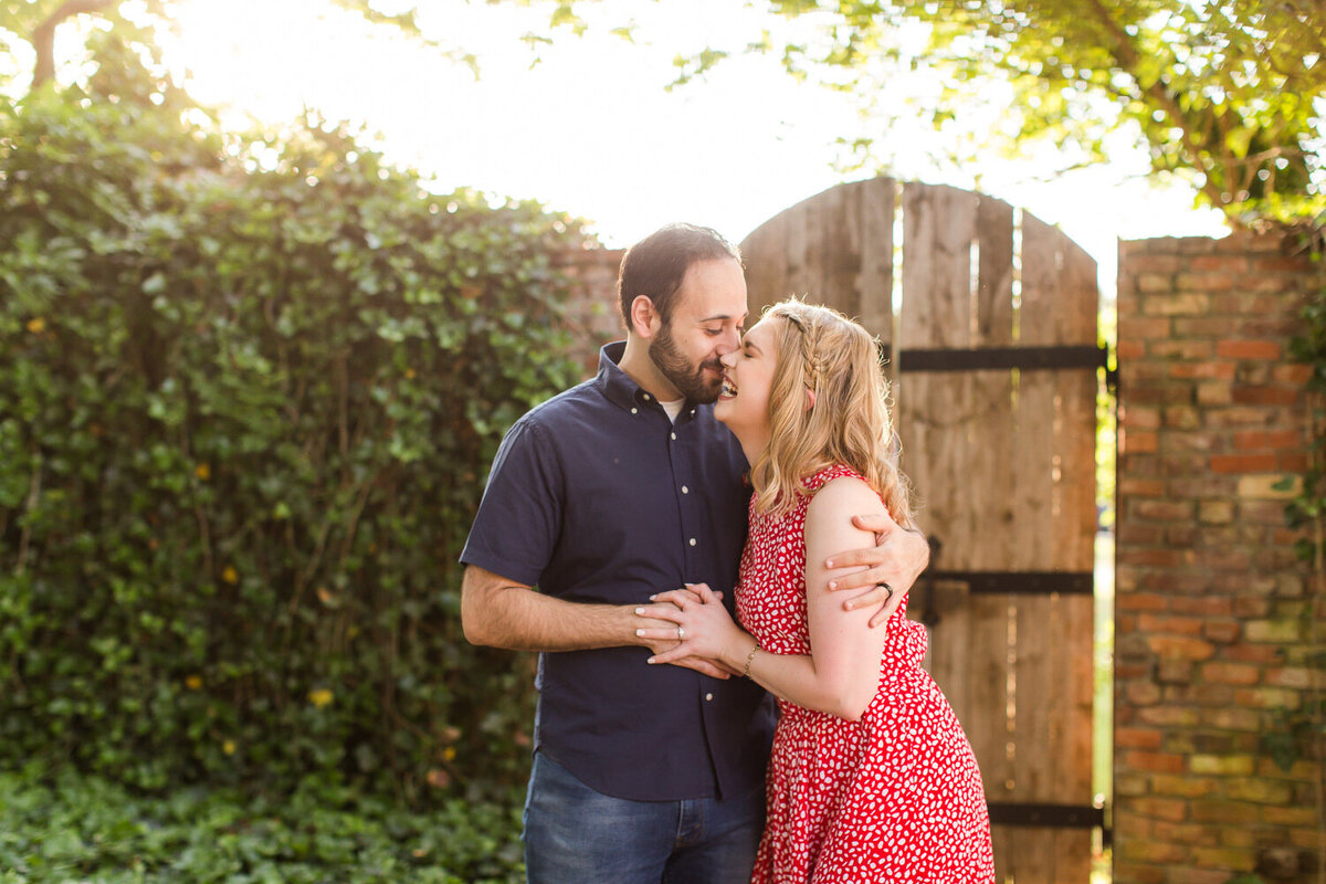
[[[727,801],[627,801],[544,753],[525,797],[529,884],[749,884],[764,785]]]

